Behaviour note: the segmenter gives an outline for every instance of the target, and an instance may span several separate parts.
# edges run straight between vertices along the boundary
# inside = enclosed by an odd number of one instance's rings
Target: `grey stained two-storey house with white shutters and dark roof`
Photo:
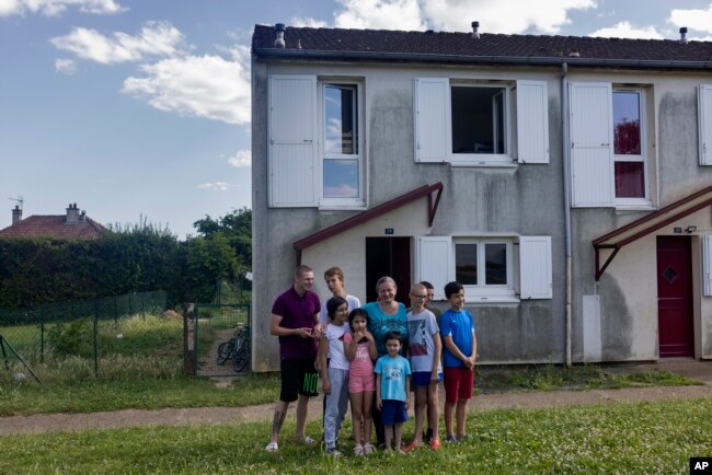
[[[254,370],[298,263],[459,280],[484,363],[712,358],[712,43],[473,26],[255,26]]]

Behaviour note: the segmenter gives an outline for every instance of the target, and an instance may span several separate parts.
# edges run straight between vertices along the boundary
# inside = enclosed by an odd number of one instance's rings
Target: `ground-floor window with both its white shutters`
[[[457,280],[470,302],[507,303],[551,299],[551,259],[550,236],[418,236],[414,260],[416,280],[432,282],[436,299]]]

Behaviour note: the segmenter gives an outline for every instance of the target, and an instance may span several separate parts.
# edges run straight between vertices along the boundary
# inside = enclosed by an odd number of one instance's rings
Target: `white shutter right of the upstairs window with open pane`
[[[517,161],[549,163],[549,94],[544,81],[517,81]]]

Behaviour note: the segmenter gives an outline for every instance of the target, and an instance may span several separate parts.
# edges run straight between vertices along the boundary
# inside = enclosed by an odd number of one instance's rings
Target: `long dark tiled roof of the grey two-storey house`
[[[424,62],[528,62],[570,66],[712,69],[712,42],[590,36],[502,35],[287,27],[286,48],[274,46],[273,26],[255,25],[256,57],[370,59]],[[573,56],[572,56],[573,54]],[[577,55],[577,56],[576,56]]]

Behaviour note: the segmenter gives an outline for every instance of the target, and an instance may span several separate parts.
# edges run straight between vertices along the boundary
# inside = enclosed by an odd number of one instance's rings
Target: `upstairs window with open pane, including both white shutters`
[[[418,78],[414,97],[416,162],[549,163],[546,82]]]

